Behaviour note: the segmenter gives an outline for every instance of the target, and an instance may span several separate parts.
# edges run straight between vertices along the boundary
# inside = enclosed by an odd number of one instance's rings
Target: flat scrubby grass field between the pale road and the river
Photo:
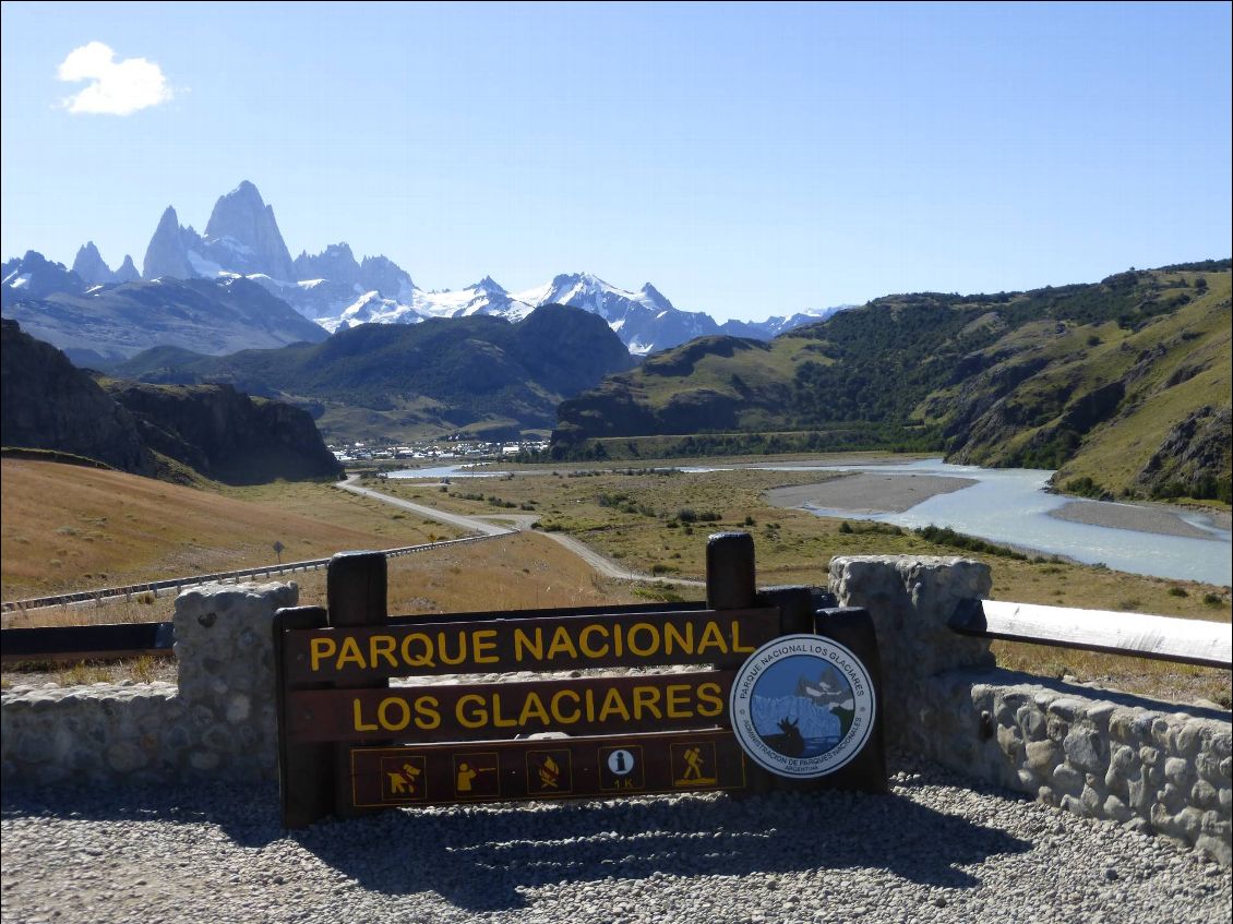
[[[1228,588],[1046,557],[1020,559],[969,552],[894,526],[817,517],[771,506],[763,499],[773,487],[822,480],[817,472],[591,473],[581,467],[557,467],[556,472],[456,479],[445,490],[436,484],[390,479],[382,482],[381,489],[457,513],[491,515],[530,509],[541,529],[560,529],[631,570],[660,575],[705,578],[707,535],[737,529],[753,535],[760,585],[825,585],[830,559],[837,554],[962,554],[990,565],[993,598],[999,600],[1222,622],[1229,622],[1233,610]],[[1076,676],[1163,697],[1229,703],[1227,671],[1042,646],[997,643],[995,650],[999,663],[1015,670]]]

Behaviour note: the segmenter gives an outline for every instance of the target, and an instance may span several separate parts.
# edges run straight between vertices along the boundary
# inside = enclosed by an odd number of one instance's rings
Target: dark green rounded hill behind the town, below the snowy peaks
[[[561,398],[630,365],[600,318],[544,306],[517,324],[485,315],[364,324],[322,344],[229,356],[159,347],[110,371],[143,382],[233,384],[305,407],[327,439],[390,441],[546,431]]]

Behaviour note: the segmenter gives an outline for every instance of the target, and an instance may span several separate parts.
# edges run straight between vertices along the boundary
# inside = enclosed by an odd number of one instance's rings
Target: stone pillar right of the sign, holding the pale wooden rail
[[[991,588],[989,565],[965,558],[831,559],[830,590],[840,606],[862,606],[873,617],[888,745],[930,753],[921,739],[935,733],[938,717],[924,712],[926,681],[956,668],[993,667],[988,641],[947,627],[961,600],[988,598]]]

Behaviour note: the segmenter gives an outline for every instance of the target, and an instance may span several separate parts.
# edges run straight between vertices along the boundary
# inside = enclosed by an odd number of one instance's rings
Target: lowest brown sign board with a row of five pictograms
[[[741,791],[729,731],[351,748],[356,808]]]

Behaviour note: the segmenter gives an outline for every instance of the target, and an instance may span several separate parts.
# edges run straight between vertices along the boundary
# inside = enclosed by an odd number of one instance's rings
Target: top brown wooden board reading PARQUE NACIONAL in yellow
[[[713,664],[736,668],[780,633],[778,609],[596,614],[291,630],[290,685],[395,676]]]

